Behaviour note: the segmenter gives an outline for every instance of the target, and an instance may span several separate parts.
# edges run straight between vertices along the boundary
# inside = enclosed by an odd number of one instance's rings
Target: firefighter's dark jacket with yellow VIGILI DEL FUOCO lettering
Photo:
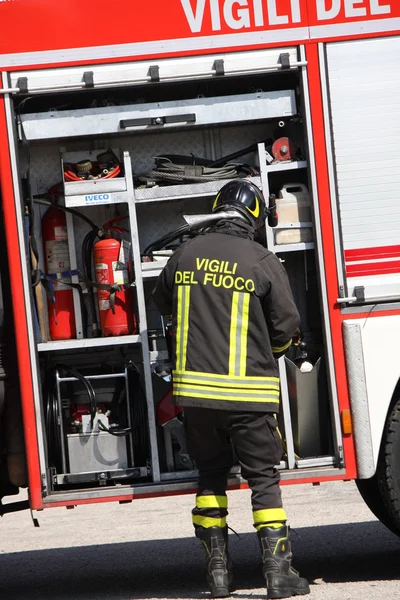
[[[174,331],[181,406],[279,410],[276,358],[299,327],[286,271],[239,220],[219,222],[173,254],[153,291]]]

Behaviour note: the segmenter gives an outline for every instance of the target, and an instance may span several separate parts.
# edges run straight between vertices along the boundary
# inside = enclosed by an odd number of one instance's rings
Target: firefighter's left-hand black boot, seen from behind
[[[207,566],[207,581],[213,598],[226,598],[234,590],[231,561],[228,555],[227,527],[196,527]]]

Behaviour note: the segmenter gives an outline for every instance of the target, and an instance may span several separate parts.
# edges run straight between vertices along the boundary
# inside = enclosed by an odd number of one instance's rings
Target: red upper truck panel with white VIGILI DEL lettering
[[[120,0],[118,10],[110,11],[106,0],[99,0],[95,10],[90,3],[82,6],[79,0],[3,0],[0,21],[0,65],[35,68],[57,61],[64,65],[93,64],[388,35],[400,29],[400,3]],[[15,23],[18,36],[14,35]],[[85,48],[97,50],[85,60],[79,52]],[[63,50],[62,57],[52,56],[52,51],[57,50]],[[43,54],[46,52],[48,55]]]

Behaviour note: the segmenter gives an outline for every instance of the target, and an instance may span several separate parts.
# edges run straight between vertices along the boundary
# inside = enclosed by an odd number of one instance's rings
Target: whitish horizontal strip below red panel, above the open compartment
[[[297,42],[309,38],[308,27],[293,27],[267,31],[249,31],[224,35],[196,36],[174,40],[155,40],[133,44],[113,46],[91,46],[64,50],[45,50],[43,52],[20,52],[0,56],[0,67],[21,67],[27,65],[45,65],[65,62],[125,58],[130,56],[159,56],[176,52],[205,50],[209,52],[219,48],[245,46],[264,46],[272,43]]]

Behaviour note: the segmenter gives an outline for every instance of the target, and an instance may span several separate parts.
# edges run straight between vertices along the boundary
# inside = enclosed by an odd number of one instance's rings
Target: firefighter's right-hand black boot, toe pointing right
[[[291,566],[289,527],[262,527],[258,532],[268,598],[290,598],[310,593],[308,582]]]

